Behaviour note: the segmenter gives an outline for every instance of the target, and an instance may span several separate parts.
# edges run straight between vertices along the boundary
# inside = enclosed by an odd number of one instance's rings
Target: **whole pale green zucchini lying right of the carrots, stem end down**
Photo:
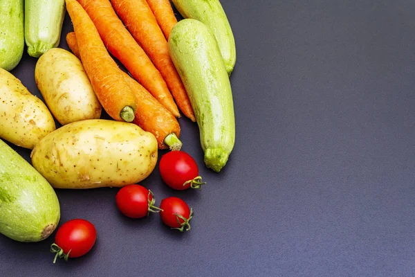
[[[209,28],[183,19],[172,28],[169,53],[185,85],[199,126],[205,166],[219,172],[235,141],[230,80]]]

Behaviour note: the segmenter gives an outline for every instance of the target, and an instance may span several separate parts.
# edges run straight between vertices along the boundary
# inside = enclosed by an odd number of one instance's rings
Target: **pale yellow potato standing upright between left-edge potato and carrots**
[[[35,81],[60,124],[100,118],[102,106],[82,62],[73,53],[62,48],[46,51],[37,60]]]

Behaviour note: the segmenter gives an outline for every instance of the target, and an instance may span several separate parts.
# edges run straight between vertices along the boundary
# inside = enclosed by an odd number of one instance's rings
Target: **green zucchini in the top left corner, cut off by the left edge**
[[[10,71],[24,51],[24,0],[0,0],[0,67]]]

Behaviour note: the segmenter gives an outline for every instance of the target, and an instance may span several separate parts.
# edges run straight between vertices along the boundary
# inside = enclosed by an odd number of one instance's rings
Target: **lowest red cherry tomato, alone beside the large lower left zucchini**
[[[55,243],[50,251],[56,253],[57,258],[77,258],[88,253],[97,239],[95,226],[82,219],[69,220],[62,224],[56,232]]]

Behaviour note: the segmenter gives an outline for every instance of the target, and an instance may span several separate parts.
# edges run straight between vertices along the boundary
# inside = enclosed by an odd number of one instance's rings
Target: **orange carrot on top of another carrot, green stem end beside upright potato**
[[[107,114],[115,120],[131,122],[137,99],[109,55],[88,14],[76,0],[66,0],[86,75]]]

